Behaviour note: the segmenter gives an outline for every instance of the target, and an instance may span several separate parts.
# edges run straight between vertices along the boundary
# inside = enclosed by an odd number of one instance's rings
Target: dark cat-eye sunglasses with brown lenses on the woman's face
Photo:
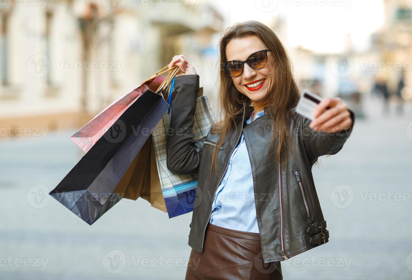
[[[222,64],[222,66],[230,77],[239,77],[243,73],[243,66],[245,63],[254,70],[259,70],[265,67],[267,64],[267,52],[270,52],[270,49],[254,52],[253,54],[250,54],[245,61],[229,60]]]

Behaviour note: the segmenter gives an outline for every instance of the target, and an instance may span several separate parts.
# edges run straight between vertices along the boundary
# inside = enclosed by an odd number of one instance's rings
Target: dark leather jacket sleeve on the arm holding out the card
[[[309,127],[311,120],[301,118],[302,141],[312,164],[322,155],[335,155],[339,152],[349,135],[352,133],[355,123],[355,113],[348,109],[351,114],[352,125],[349,129],[343,129],[336,133],[314,131]]]

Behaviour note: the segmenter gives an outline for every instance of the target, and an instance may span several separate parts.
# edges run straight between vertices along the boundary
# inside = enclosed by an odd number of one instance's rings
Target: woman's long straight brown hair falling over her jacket
[[[272,120],[272,127],[278,128],[276,131],[280,130],[280,145],[276,144],[276,155],[279,155],[280,151],[288,151],[290,147],[291,134],[293,131],[290,131],[289,128],[291,119],[293,118],[290,109],[296,106],[300,98],[300,93],[293,77],[292,64],[290,63],[285,47],[278,36],[276,36],[269,27],[259,21],[243,21],[226,29],[225,33],[220,37],[219,42],[220,65],[227,61],[226,46],[230,40],[240,39],[249,35],[256,35],[260,38],[274,56],[274,65],[266,66],[272,67],[273,69],[270,71],[273,82],[271,82],[271,87],[269,88],[267,109],[269,109],[268,114],[270,120]],[[220,121],[211,126],[211,133],[219,134],[219,140],[213,148],[210,169],[210,171],[212,171],[214,167],[217,176],[219,176],[217,166],[219,149],[217,147],[222,146],[233,127],[237,129],[236,124],[241,120],[243,115],[243,102],[246,102],[246,106],[252,103],[246,95],[236,89],[232,78],[225,73],[222,67],[219,71],[219,78],[218,107],[220,108],[220,112],[218,113],[220,114]],[[277,136],[278,133],[272,133],[271,155],[273,154],[273,143],[277,139]]]

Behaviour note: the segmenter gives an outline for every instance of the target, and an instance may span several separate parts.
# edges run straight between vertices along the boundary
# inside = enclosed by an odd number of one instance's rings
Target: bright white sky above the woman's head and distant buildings
[[[368,36],[382,26],[382,0],[211,0],[226,20],[254,19],[270,24],[277,14],[288,20],[291,46],[302,45],[315,52],[340,52],[345,34],[362,49]]]

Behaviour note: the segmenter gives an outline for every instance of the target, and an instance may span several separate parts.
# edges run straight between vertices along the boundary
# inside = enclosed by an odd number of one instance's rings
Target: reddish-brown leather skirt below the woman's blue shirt
[[[192,249],[185,279],[282,280],[280,261],[265,264],[259,233],[208,224],[203,254]]]

